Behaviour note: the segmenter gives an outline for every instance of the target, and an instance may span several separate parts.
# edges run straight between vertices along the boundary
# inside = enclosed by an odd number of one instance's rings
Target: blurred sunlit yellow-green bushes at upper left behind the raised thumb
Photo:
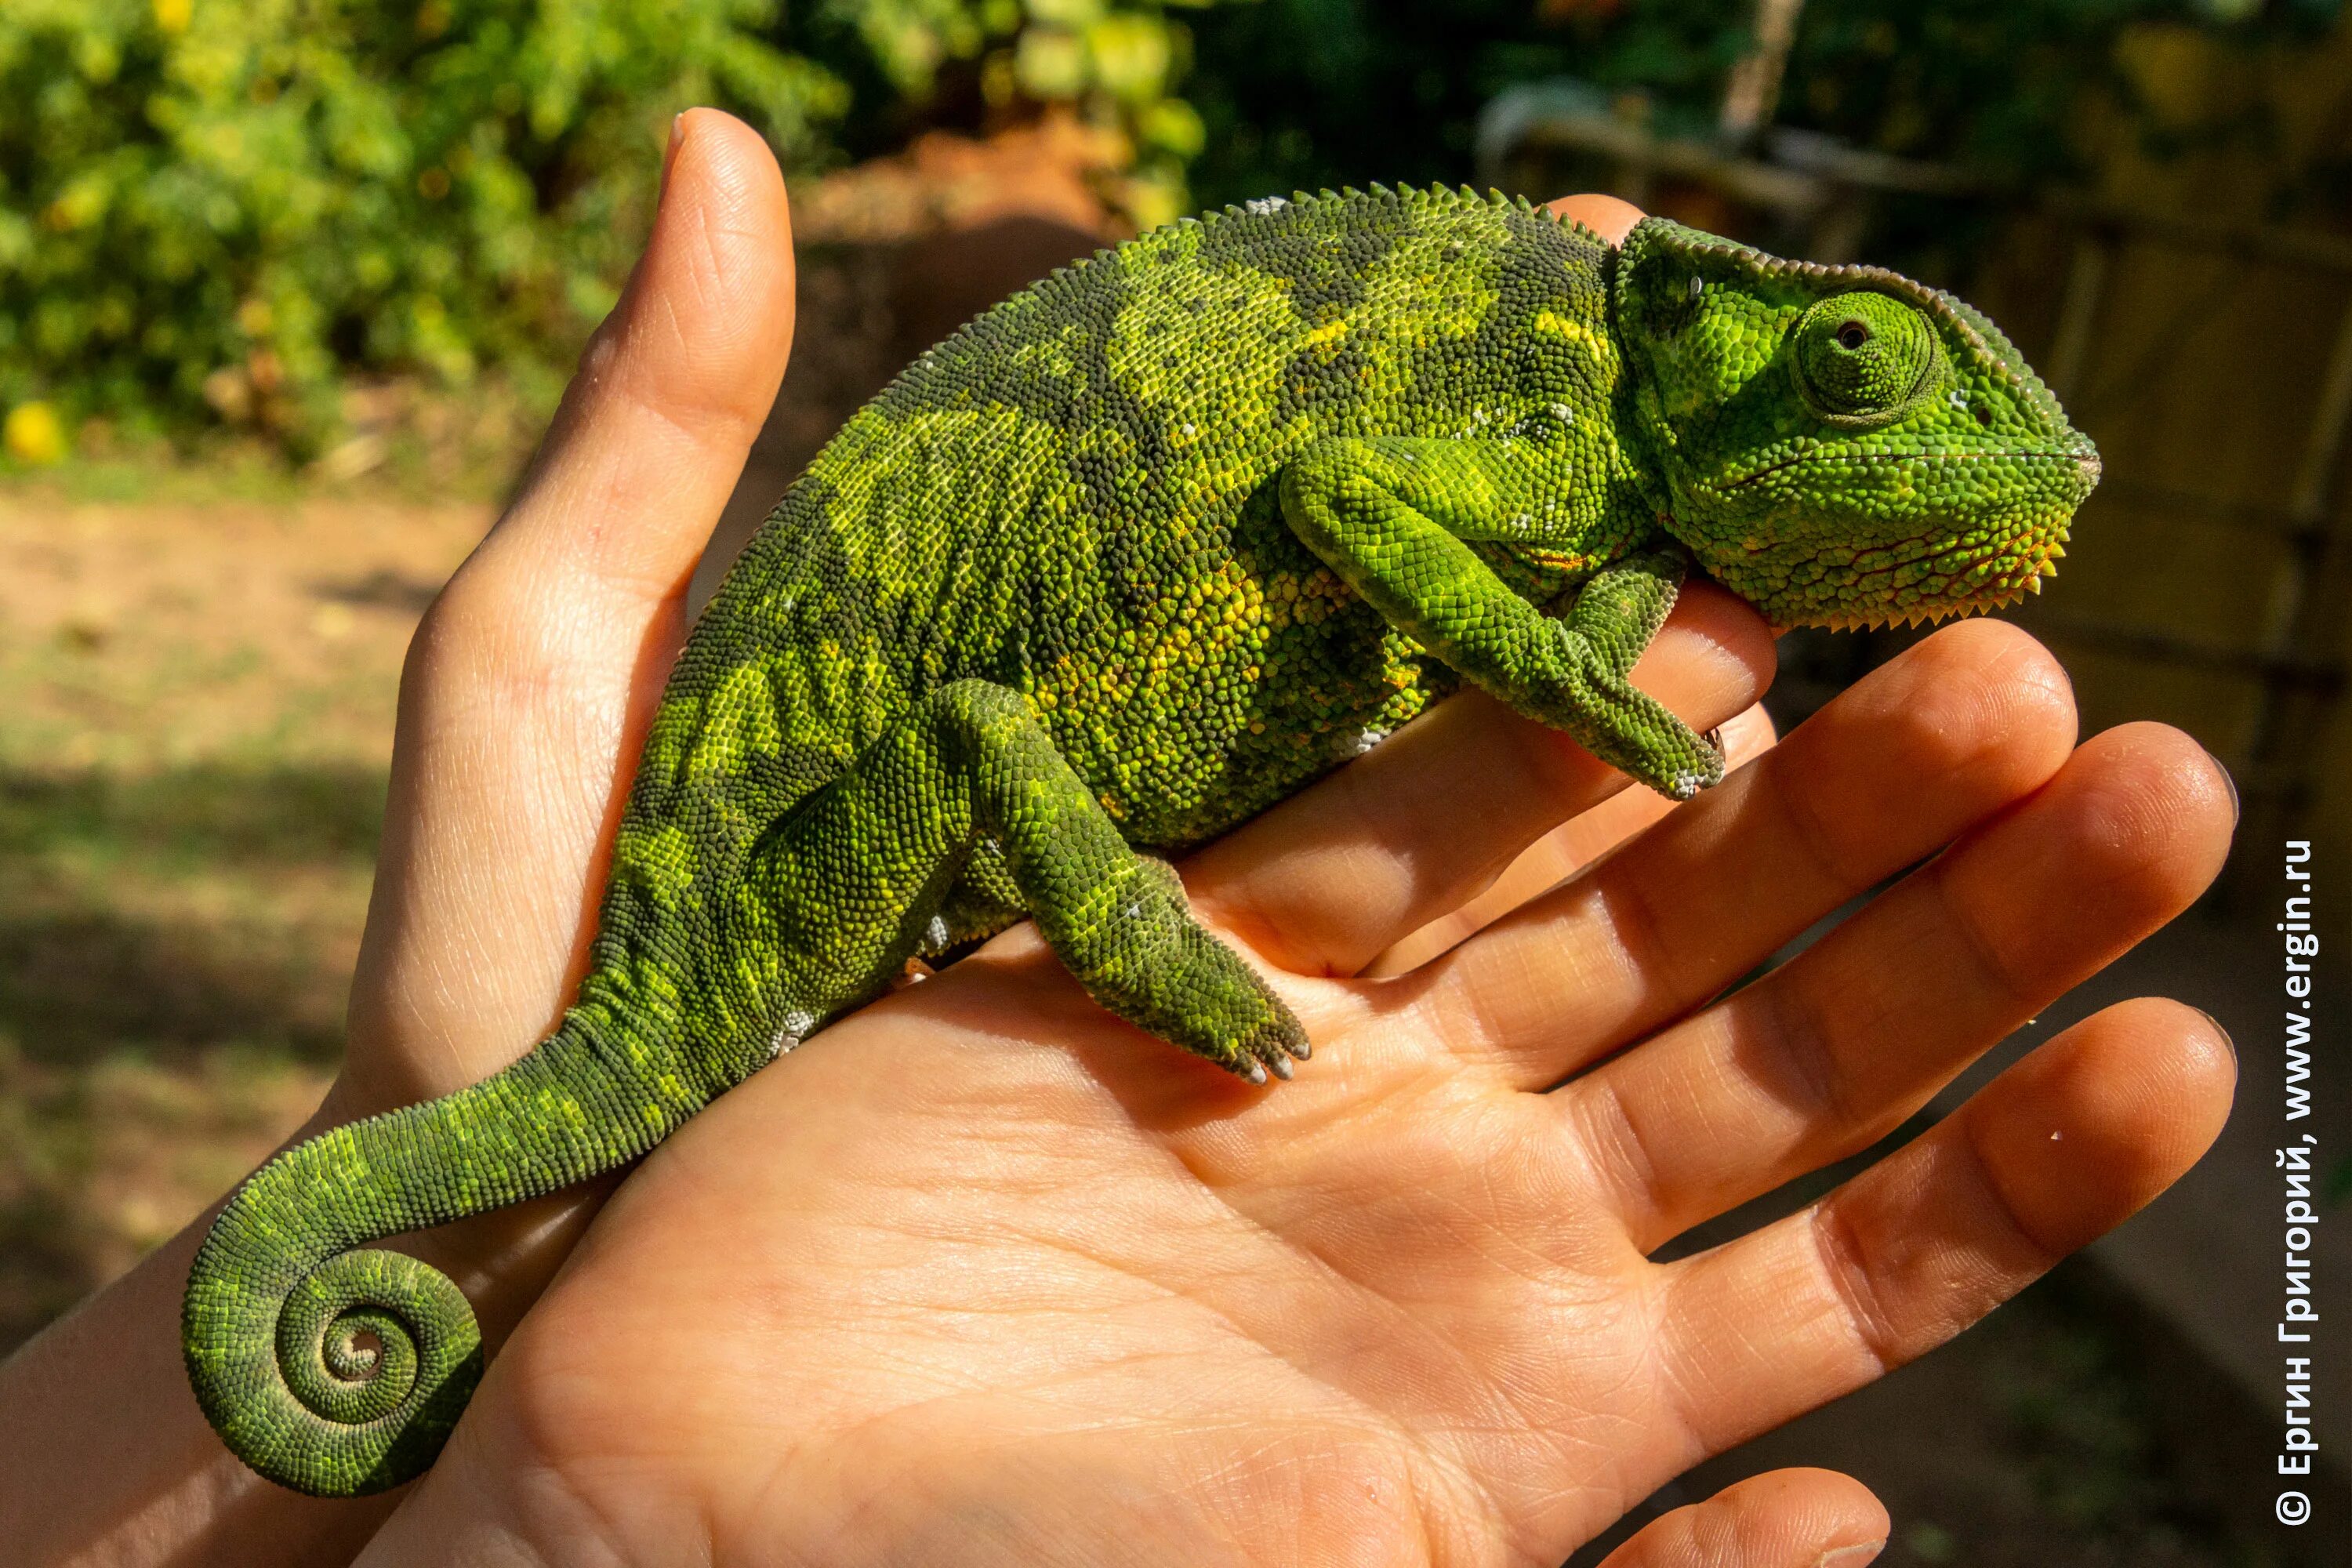
[[[1169,216],[1200,120],[1157,0],[7,0],[0,409],[332,440],[353,374],[548,402],[642,242],[668,120],[746,115],[790,172],[995,115],[1127,132]],[[953,99],[953,92],[946,96]]]

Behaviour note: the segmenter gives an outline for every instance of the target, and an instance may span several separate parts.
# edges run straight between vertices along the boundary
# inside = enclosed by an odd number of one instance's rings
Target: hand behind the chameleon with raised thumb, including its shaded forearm
[[[348,1063],[301,1133],[492,1074],[550,1030],[583,969],[687,581],[793,334],[774,158],[710,110],[680,127],[628,292],[506,515],[416,632]],[[496,1340],[607,1190],[409,1244]],[[179,1312],[209,1220],[0,1363],[0,1556],[346,1561],[390,1507],[268,1486],[205,1422]]]

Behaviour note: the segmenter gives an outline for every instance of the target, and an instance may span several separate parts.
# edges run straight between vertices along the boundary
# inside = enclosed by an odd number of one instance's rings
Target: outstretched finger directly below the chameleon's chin
[[[1945,628],[1592,872],[1437,959],[1416,1006],[1458,1056],[1526,1088],[1557,1084],[2030,795],[2072,741],[2072,689],[2049,651],[1999,621]]]

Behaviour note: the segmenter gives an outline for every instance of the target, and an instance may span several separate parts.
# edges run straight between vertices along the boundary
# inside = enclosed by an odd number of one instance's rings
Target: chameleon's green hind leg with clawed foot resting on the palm
[[[1256,1084],[1308,1053],[1282,999],[1192,919],[1176,872],[1120,837],[1028,703],[995,682],[931,691],[776,823],[746,865],[729,947],[762,966],[743,980],[781,1034],[807,1034],[955,936],[941,910],[967,867],[1016,893],[1120,1018]]]

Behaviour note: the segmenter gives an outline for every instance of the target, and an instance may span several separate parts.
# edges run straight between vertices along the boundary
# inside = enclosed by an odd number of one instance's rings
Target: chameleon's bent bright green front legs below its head
[[[1357,595],[1468,682],[1573,736],[1649,788],[1689,799],[1722,750],[1628,679],[1675,609],[1679,550],[1602,567],[1566,616],[1515,595],[1465,541],[1562,543],[1541,458],[1503,442],[1329,440],[1282,473],[1291,531]]]

